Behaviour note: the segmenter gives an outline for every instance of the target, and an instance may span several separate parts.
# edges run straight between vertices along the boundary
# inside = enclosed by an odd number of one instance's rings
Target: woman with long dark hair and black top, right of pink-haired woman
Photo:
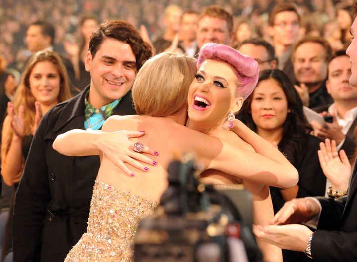
[[[309,135],[301,100],[280,70],[260,72],[257,87],[238,113],[250,129],[271,144],[276,144],[299,174],[296,186],[289,189],[270,187],[274,213],[296,197],[323,196],[326,177],[318,160],[319,139]],[[303,253],[283,250],[284,261],[305,261]]]

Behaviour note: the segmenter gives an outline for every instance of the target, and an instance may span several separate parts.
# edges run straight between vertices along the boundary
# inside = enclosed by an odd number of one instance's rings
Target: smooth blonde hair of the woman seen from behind
[[[132,97],[139,115],[165,117],[187,102],[196,59],[167,52],[147,60],[136,75]]]

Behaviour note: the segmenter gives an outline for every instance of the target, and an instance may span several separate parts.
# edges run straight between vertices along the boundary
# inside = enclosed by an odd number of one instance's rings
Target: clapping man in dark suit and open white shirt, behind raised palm
[[[353,130],[357,124],[357,88],[349,83],[352,64],[344,50],[337,51],[328,64],[326,81],[327,92],[333,104],[324,107],[324,114],[333,117],[332,123],[322,126],[312,122],[314,135],[324,141],[335,140],[337,149],[344,149],[350,161],[355,155],[355,136]],[[322,109],[322,108],[321,108]]]

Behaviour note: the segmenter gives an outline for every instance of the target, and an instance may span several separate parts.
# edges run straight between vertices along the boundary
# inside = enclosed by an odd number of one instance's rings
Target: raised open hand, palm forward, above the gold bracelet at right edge
[[[323,173],[330,180],[335,190],[346,190],[348,187],[351,165],[344,150],[337,152],[336,142],[326,139],[325,143],[320,143],[320,150],[317,152]]]

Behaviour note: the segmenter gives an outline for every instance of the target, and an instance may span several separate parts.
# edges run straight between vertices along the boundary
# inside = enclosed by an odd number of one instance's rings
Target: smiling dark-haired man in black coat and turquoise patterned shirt
[[[130,89],[150,46],[121,20],[102,24],[89,46],[89,87],[51,109],[33,138],[15,200],[14,261],[63,262],[86,231],[99,157],[61,155],[52,148],[57,135],[98,130],[110,115],[135,114]]]

